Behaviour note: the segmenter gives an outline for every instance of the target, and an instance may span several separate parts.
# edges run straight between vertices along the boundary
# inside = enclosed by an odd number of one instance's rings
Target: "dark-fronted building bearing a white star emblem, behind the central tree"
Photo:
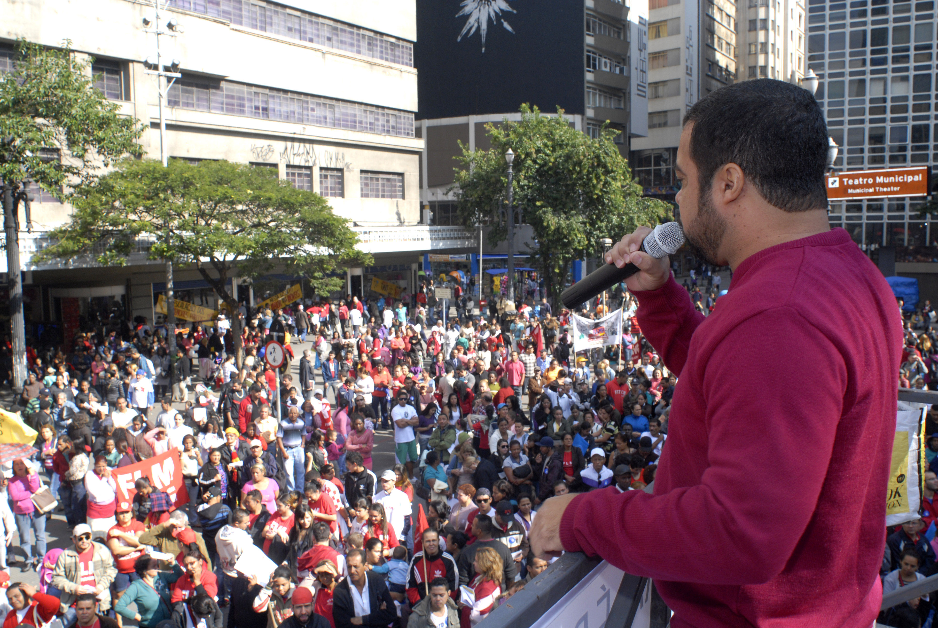
[[[597,137],[602,124],[628,156],[629,139],[647,133],[647,0],[417,0],[420,198],[432,225],[453,225],[459,143],[490,147],[485,125],[519,120],[522,103],[545,115],[557,107],[577,130]],[[515,251],[533,240],[520,226]],[[505,266],[486,246],[482,269]],[[503,249],[504,251],[504,249]],[[425,257],[433,276],[479,272],[478,243]],[[494,256],[490,256],[494,255]]]

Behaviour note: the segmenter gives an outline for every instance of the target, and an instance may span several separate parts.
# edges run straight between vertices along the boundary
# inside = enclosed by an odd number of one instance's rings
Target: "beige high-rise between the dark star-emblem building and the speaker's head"
[[[732,0],[651,0],[648,135],[632,141],[632,171],[649,196],[673,200],[681,119],[701,96],[736,80]]]

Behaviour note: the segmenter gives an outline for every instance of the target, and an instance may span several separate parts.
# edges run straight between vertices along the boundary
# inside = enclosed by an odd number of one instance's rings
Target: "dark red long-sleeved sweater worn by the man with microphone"
[[[655,494],[575,498],[564,547],[655,578],[674,628],[869,628],[902,344],[882,274],[834,229],[750,256],[708,318],[673,279],[636,297],[681,382]]]

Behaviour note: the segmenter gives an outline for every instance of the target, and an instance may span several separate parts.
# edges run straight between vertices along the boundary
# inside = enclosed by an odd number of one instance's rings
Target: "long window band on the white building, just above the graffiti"
[[[177,79],[167,101],[183,109],[414,137],[414,114],[409,112],[231,81]]]

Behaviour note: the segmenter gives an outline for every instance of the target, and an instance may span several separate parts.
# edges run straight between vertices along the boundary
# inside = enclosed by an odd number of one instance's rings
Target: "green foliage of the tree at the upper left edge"
[[[68,41],[53,50],[21,39],[16,50],[0,75],[0,179],[68,196],[70,186],[141,154],[144,127],[95,88],[91,59],[76,58]]]

